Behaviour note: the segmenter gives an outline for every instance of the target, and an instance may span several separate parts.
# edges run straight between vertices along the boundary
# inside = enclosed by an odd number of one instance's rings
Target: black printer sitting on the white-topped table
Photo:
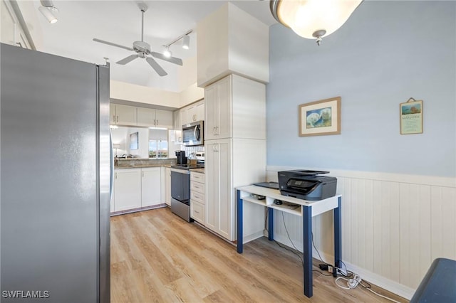
[[[281,195],[309,201],[323,200],[336,196],[337,179],[329,171],[279,171],[279,190]]]

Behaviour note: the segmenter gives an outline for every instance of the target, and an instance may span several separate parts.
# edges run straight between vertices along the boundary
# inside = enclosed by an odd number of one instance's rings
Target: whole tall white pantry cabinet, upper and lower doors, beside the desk
[[[266,87],[239,75],[228,75],[204,88],[204,100],[205,225],[233,241],[235,188],[266,179]],[[248,204],[247,208],[257,207]],[[250,211],[244,209],[245,213]],[[244,226],[247,233],[248,224]]]

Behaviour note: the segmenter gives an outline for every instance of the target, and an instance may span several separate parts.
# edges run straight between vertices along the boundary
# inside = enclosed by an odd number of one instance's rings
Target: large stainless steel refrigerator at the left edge
[[[0,57],[0,300],[109,302],[109,67]]]

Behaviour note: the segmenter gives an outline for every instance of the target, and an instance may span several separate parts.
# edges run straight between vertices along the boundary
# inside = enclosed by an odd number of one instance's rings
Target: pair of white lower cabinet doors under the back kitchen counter
[[[115,169],[111,212],[161,204],[161,183],[160,167]]]

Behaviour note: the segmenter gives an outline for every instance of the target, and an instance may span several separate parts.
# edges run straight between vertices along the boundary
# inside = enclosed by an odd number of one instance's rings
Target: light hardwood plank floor
[[[111,218],[111,302],[390,302],[362,287],[340,289],[318,272],[309,299],[302,280],[299,257],[266,238],[240,255],[169,208]]]

